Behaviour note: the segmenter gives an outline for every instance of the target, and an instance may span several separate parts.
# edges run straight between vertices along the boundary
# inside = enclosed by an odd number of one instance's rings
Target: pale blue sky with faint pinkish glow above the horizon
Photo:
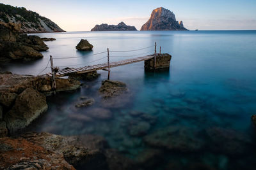
[[[0,0],[51,19],[65,31],[90,31],[123,21],[140,30],[152,10],[164,7],[190,30],[256,30],[256,0]]]

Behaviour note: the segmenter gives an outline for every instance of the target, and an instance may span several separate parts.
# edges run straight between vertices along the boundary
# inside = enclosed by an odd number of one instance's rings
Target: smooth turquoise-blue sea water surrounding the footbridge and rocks
[[[126,83],[130,95],[120,96],[110,108],[102,104],[98,93],[108,73],[99,71],[100,77],[84,81],[81,90],[49,97],[49,110],[36,121],[33,131],[99,134],[112,148],[134,160],[157,150],[158,154],[147,169],[255,169],[255,129],[250,117],[256,114],[256,31],[37,35],[57,39],[46,42],[49,50],[42,52],[44,59],[1,67],[19,74],[37,74],[46,66],[49,55],[81,57],[54,59],[56,66],[83,66],[106,57],[106,53],[92,54],[107,48],[133,50],[154,45],[154,42],[157,42],[157,51],[161,46],[162,52],[172,55],[172,60],[170,71],[161,73],[145,73],[143,62],[111,68],[111,80]],[[93,52],[77,52],[75,46],[81,38],[92,43]],[[154,47],[110,55],[153,51]],[[126,58],[111,57],[110,60]],[[106,58],[90,64],[102,62],[106,62]],[[88,108],[76,108],[81,96],[93,97],[95,103]],[[124,104],[120,105],[119,101]],[[113,117],[91,122],[74,118],[77,114],[88,115],[93,108],[109,110]],[[132,115],[135,111],[140,115]],[[140,133],[134,136],[134,131]]]

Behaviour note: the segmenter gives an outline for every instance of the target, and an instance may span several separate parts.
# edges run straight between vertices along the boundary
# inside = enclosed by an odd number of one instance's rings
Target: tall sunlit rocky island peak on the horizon
[[[142,25],[140,31],[187,31],[183,25],[176,20],[175,15],[172,11],[166,10],[165,8],[156,8],[152,11],[149,20]]]

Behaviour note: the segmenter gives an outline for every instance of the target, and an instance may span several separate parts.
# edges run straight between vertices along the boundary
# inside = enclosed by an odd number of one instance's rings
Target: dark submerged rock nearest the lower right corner
[[[209,148],[213,152],[229,155],[243,154],[246,150],[250,150],[250,145],[252,145],[248,136],[232,129],[212,127],[207,129],[206,133],[212,143]]]

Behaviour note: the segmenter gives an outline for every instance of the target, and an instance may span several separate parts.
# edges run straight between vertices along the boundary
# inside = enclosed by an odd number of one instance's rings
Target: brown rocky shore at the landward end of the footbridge
[[[80,82],[74,79],[56,79],[57,92],[76,90]],[[47,111],[46,97],[52,90],[50,77],[0,74],[0,136],[22,131],[33,120]]]

